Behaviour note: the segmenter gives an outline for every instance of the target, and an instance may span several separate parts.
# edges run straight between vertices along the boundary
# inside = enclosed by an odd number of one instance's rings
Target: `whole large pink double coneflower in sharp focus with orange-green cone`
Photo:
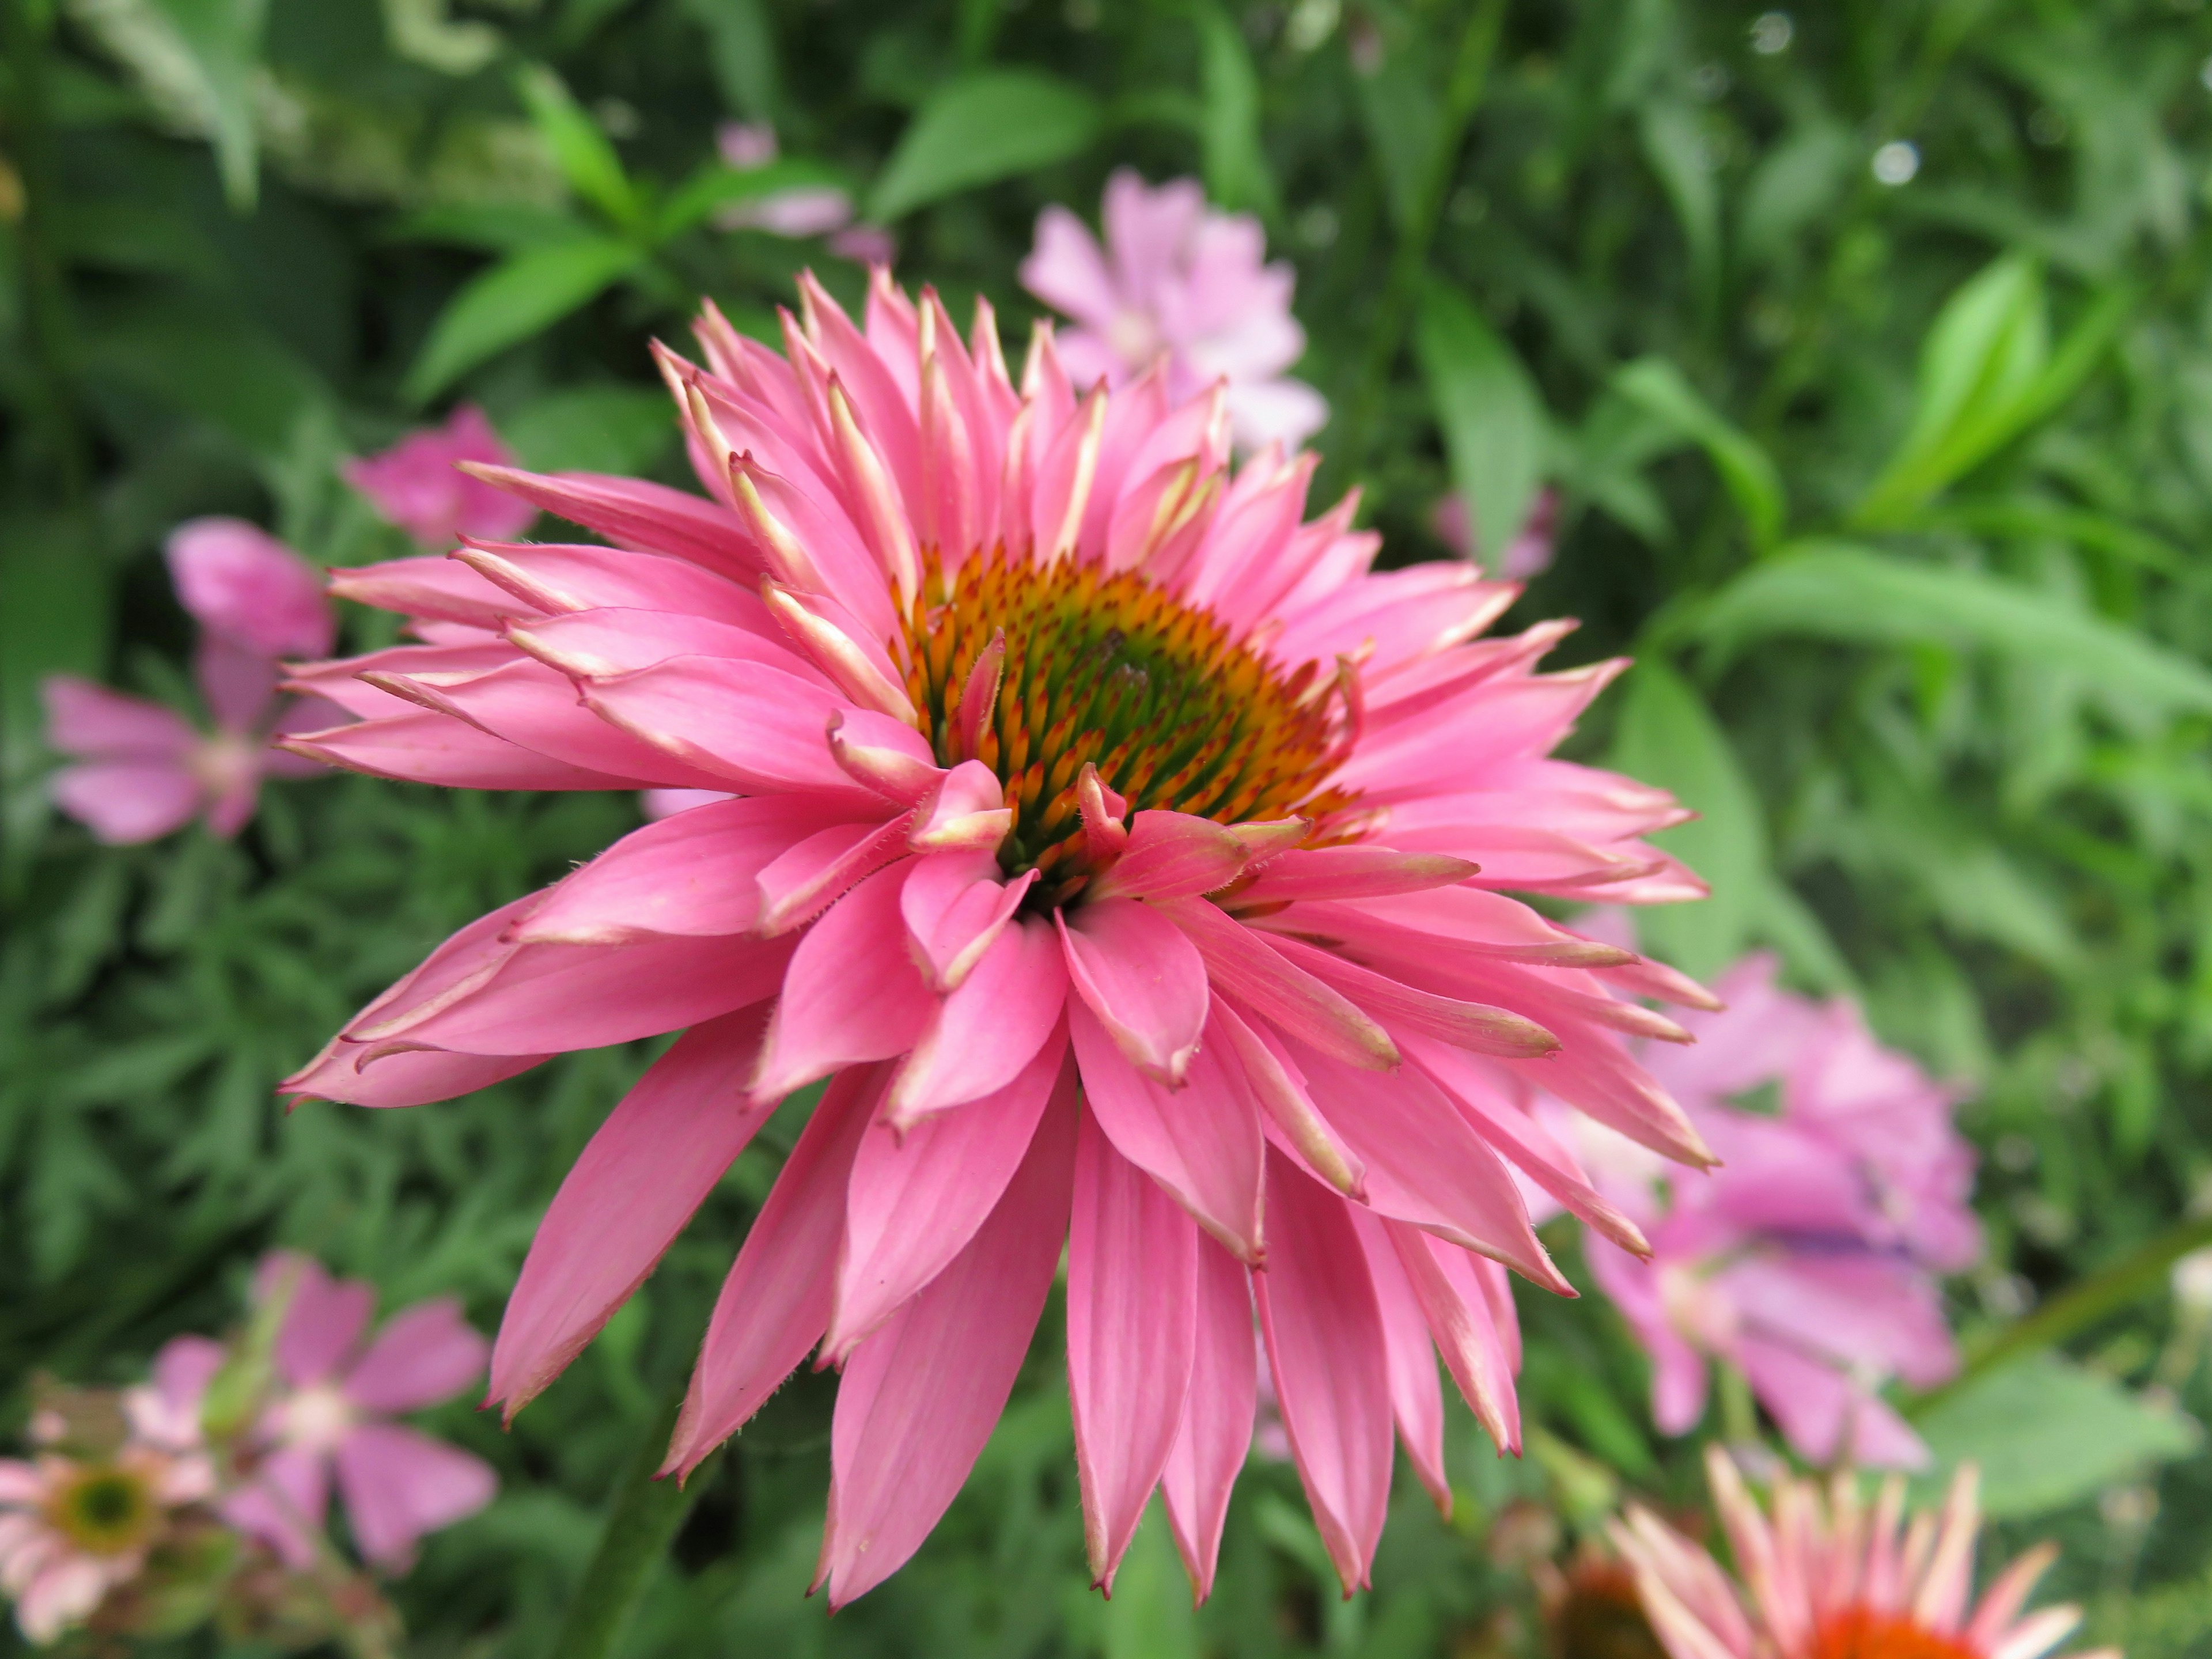
[[[953,1500],[1068,1252],[1093,1571],[1164,1489],[1212,1577],[1254,1316],[1347,1584],[1391,1422],[1444,1495],[1431,1343],[1515,1444],[1500,1263],[1566,1292],[1506,1159],[1641,1248],[1515,1104],[1533,1077],[1708,1157],[1613,1042],[1679,975],[1504,889],[1672,900],[1674,803],[1546,759],[1615,675],[1515,588],[1369,573],[1312,458],[1228,465],[1217,392],[1015,389],[980,307],[803,281],[785,356],[664,354],[712,500],[491,471],[613,546],[471,542],[341,571],[438,644],[307,670],[319,759],[467,787],[734,794],[465,927],[290,1088],[411,1106],[688,1026],[549,1210],[491,1398],[522,1407],[637,1290],[790,1091],[827,1079],[714,1310],[670,1469],[818,1347],[843,1369],[823,1577],[878,1584]]]

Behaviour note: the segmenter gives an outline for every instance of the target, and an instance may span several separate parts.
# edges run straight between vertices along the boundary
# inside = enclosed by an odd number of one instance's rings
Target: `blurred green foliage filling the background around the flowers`
[[[1453,482],[1493,546],[1557,484],[1559,557],[1520,615],[1579,615],[1571,657],[1639,657],[1584,748],[1705,814],[1672,834],[1714,898],[1648,938],[1692,971],[1770,945],[1971,1086],[1991,1252],[1955,1318],[1973,1352],[2055,1312],[1927,1407],[1931,1440],[2004,1471],[2008,1535],[2057,1531],[2068,1588],[2137,1659],[2212,1639],[2212,1469],[2174,1416],[2212,1405],[2212,1312],[2170,1305],[2159,1248],[2212,1201],[2201,0],[4,15],[0,1380],[133,1376],[219,1323],[272,1241],[394,1303],[460,1292],[489,1327],[646,1060],[283,1115],[272,1082],[345,1013],[635,805],[330,779],[274,785],[234,845],[93,847],[42,803],[33,686],[66,668],[188,701],[161,533],[237,511],[321,562],[398,555],[336,465],[449,396],[526,462],[681,478],[646,338],[677,341],[699,292],[765,330],[801,263],[863,281],[821,243],[714,230],[723,208],[841,184],[907,281],[956,312],[987,292],[1018,343],[1037,208],[1088,212],[1133,164],[1201,175],[1296,263],[1325,482],[1367,489],[1387,560],[1444,555],[1429,511]],[[730,117],[772,122],[785,159],[721,168]],[[356,644],[374,626],[347,619]],[[400,1586],[411,1652],[551,1650],[787,1137],[511,1436],[440,1425],[504,1491]],[[2148,1267],[2066,1301],[2130,1252]],[[1458,1513],[1400,1480],[1369,1597],[1336,1597],[1265,1462],[1208,1608],[1157,1522],[1093,1597],[1040,1340],[969,1493],[834,1624],[801,1599],[832,1398],[801,1376],[622,1652],[1531,1650],[1524,1568],[1557,1528],[1697,1482],[1615,1316],[1522,1305],[1531,1455],[1498,1462],[1455,1416]]]

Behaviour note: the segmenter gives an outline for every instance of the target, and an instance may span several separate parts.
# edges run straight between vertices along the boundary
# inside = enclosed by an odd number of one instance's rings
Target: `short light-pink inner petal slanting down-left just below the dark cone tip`
[[[1066,1000],[1068,971],[1051,925],[1029,918],[1004,929],[916,1037],[885,1115],[907,1126],[1004,1088],[1031,1055],[1055,1048]]]

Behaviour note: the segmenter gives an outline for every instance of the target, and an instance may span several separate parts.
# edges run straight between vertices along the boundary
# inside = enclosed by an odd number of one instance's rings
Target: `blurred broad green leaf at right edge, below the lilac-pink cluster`
[[[2059,1354],[2031,1354],[1986,1371],[1913,1427],[1940,1469],[1980,1464],[1982,1511],[1995,1520],[2077,1504],[2203,1442],[2192,1418]]]

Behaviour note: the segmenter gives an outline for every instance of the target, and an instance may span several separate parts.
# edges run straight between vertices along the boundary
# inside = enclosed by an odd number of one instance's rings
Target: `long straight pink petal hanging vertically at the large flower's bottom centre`
[[[1190,1217],[1084,1113],[1068,1221],[1068,1400],[1091,1582],[1104,1590],[1183,1420],[1197,1272]]]

